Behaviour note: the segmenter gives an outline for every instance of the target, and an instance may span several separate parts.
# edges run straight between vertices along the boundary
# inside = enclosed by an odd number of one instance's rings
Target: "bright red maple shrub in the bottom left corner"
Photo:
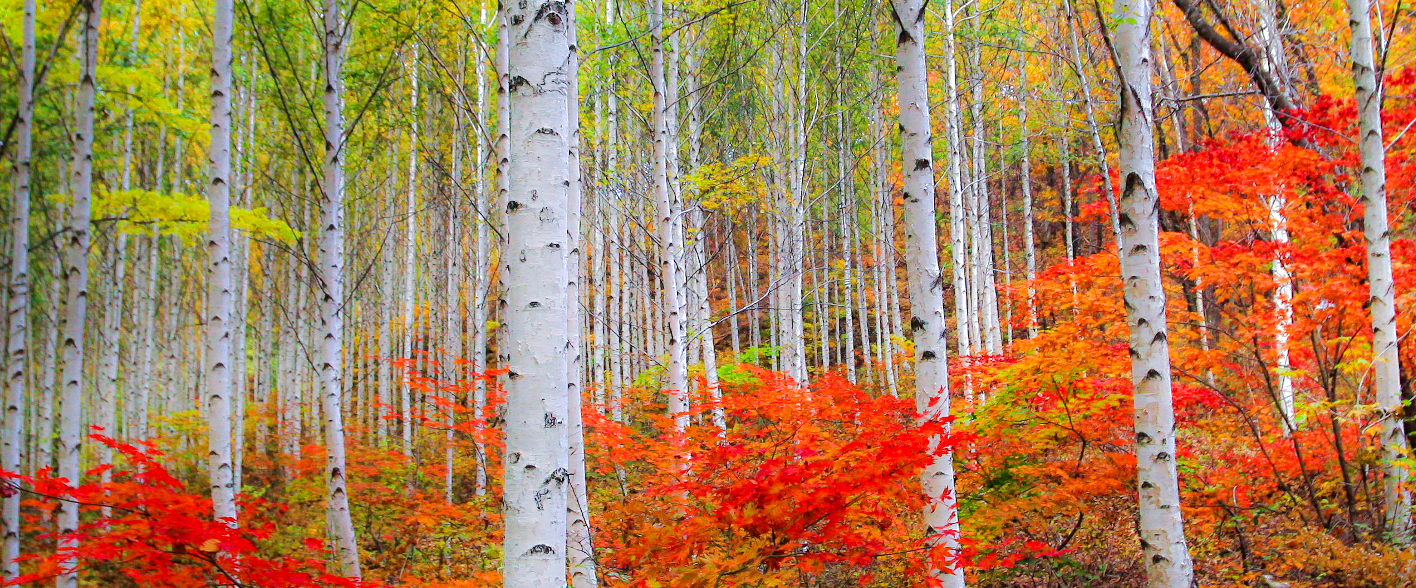
[[[98,429],[98,428],[95,428]],[[127,468],[112,468],[110,482],[69,485],[48,468],[34,476],[0,472],[8,492],[23,485],[30,514],[25,531],[54,545],[76,541],[76,548],[21,554],[25,572],[4,585],[52,582],[64,570],[78,570],[85,582],[103,587],[190,588],[252,585],[270,588],[377,587],[326,572],[324,541],[306,537],[279,555],[262,553],[275,534],[270,520],[282,504],[241,496],[246,523],[238,527],[212,520],[211,499],[193,492],[163,466],[163,452],[89,435],[113,449]],[[110,466],[86,472],[95,477]],[[200,486],[204,487],[204,486]],[[81,504],[84,520],[74,533],[52,531],[51,514],[61,500]],[[265,523],[262,523],[265,521]],[[33,543],[31,543],[33,544]]]

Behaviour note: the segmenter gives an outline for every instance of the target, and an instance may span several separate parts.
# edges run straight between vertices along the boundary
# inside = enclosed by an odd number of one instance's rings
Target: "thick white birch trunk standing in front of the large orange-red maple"
[[[1151,111],[1151,0],[1116,0],[1120,62],[1121,283],[1130,324],[1131,385],[1136,388],[1136,477],[1140,493],[1141,554],[1147,585],[1188,588],[1194,582],[1175,475],[1175,412],[1171,404],[1165,289],[1160,269],[1160,200],[1155,193]]]

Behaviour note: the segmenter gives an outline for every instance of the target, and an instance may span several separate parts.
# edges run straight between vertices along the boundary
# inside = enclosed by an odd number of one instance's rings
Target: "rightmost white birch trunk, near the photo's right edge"
[[[1381,407],[1382,506],[1392,544],[1412,543],[1412,490],[1400,465],[1409,451],[1402,425],[1400,360],[1396,353],[1396,283],[1392,281],[1392,235],[1386,220],[1386,143],[1382,139],[1382,88],[1372,61],[1372,17],[1368,0],[1348,0],[1352,28],[1352,84],[1357,86],[1358,149],[1362,167],[1362,224],[1366,237],[1368,306],[1372,313],[1372,391]]]

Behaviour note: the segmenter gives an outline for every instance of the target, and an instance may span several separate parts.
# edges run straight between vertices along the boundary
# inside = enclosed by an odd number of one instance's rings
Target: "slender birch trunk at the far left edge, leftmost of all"
[[[24,385],[30,373],[30,152],[34,129],[34,0],[24,0],[24,40],[20,54],[20,88],[16,105],[16,152],[10,167],[14,200],[10,204],[8,330],[6,332],[4,439],[0,469],[20,472],[20,445],[27,412]],[[58,302],[58,300],[55,300]],[[44,385],[44,384],[41,384]],[[20,575],[20,493],[4,496],[4,579]]]

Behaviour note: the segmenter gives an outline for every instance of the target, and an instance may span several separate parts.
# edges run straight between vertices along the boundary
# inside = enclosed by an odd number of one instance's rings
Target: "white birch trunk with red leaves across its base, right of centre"
[[[943,278],[935,235],[935,169],[929,133],[929,89],[925,68],[925,3],[892,0],[899,34],[895,41],[899,86],[901,166],[905,173],[905,259],[909,266],[910,330],[915,340],[915,407],[920,418],[949,417],[949,360]],[[925,540],[932,547],[929,575],[944,588],[961,588],[959,504],[953,455],[933,455],[930,441],[920,473]],[[939,550],[939,551],[935,551]]]

